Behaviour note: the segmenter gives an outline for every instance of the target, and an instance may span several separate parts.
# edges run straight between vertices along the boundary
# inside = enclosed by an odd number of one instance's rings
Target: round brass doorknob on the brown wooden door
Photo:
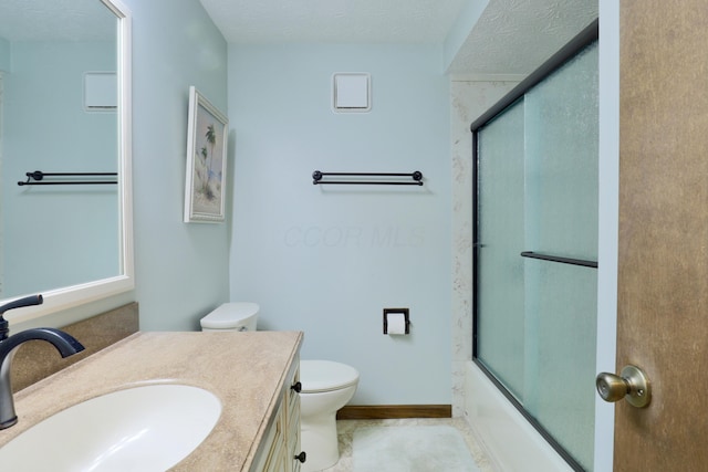
[[[626,399],[633,407],[644,408],[652,401],[652,386],[637,366],[626,366],[622,374],[601,373],[595,379],[597,394],[605,401]]]

